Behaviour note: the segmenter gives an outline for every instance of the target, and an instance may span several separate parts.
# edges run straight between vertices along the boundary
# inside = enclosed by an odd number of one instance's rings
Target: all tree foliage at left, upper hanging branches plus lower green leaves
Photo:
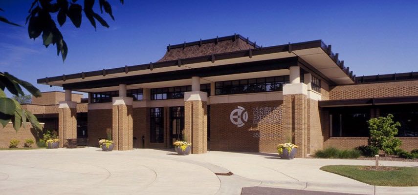
[[[26,24],[29,39],[36,39],[42,34],[43,44],[47,48],[50,44],[56,45],[57,56],[60,55],[65,61],[68,47],[64,41],[63,35],[57,28],[51,13],[57,13],[56,20],[62,26],[68,17],[76,28],[80,28],[82,20],[82,12],[86,15],[90,24],[96,29],[96,20],[102,25],[109,28],[109,24],[97,13],[93,11],[93,5],[96,0],[84,0],[84,8],[82,5],[76,3],[77,0],[34,0],[29,9],[29,15],[26,17]],[[123,4],[124,0],[120,0]],[[103,9],[114,20],[110,3],[107,0],[99,0],[100,12],[103,14]],[[1,12],[4,12],[0,8]],[[0,16],[0,21],[21,26],[14,22],[7,20]],[[29,23],[28,23],[29,22]],[[29,82],[16,78],[7,72],[0,72],[0,124],[6,126],[10,121],[13,127],[18,131],[21,127],[25,128],[26,121],[32,124],[36,129],[42,130],[38,119],[29,111],[22,109],[21,104],[16,100],[25,96],[22,91],[25,88],[34,97],[41,97],[39,89],[34,87]],[[7,89],[15,98],[7,98],[4,93]]]

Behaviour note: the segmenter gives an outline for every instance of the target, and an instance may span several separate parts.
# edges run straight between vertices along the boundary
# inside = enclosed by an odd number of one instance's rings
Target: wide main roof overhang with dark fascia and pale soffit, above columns
[[[263,64],[266,61],[272,62],[271,60],[280,62],[281,65],[268,67],[272,63]],[[248,66],[248,63],[252,67]],[[248,71],[266,71],[272,68],[283,69],[292,65],[301,66],[305,71],[323,78],[329,84],[354,83],[352,72],[344,67],[343,61],[338,60],[338,54],[334,55],[330,46],[326,46],[322,40],[41,78],[38,79],[38,83],[63,86],[77,91],[77,89],[109,87],[109,83],[114,85],[117,82],[125,84],[138,84],[138,80],[142,83],[160,82],[163,81],[160,77],[177,80],[191,75],[214,77]]]

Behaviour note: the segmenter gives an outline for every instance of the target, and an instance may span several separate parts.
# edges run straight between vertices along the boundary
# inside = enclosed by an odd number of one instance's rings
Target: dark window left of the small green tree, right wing
[[[338,108],[330,111],[330,137],[369,137],[369,108]]]

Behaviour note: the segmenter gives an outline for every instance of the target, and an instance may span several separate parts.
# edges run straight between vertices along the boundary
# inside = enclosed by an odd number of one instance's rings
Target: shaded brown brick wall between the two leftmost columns
[[[112,128],[112,109],[88,111],[88,145],[99,146],[98,138],[106,138],[106,128]]]

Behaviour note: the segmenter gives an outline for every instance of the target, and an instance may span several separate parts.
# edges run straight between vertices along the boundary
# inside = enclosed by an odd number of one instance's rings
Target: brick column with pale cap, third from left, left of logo
[[[192,143],[192,154],[207,152],[207,93],[184,94],[184,137]]]

